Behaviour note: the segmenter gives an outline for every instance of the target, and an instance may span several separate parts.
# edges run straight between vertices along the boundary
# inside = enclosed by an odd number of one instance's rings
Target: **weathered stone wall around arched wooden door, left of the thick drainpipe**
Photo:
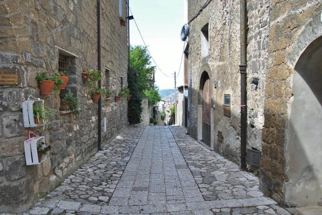
[[[239,1],[209,1],[199,13],[195,11],[198,1],[188,2],[189,22],[189,63],[192,69],[192,136],[198,137],[198,104],[202,103],[200,85],[202,73],[210,77],[211,107],[213,110],[213,127],[211,132],[217,137],[218,130],[222,132],[221,141],[213,138],[211,148],[229,157],[236,163],[240,161],[240,52],[239,52]],[[199,3],[202,8],[204,3]],[[230,8],[230,16],[229,16]],[[190,9],[192,9],[190,11]],[[230,29],[229,29],[229,19]],[[209,23],[209,55],[201,57],[202,28]],[[190,68],[192,65],[192,68]],[[216,88],[214,87],[216,83]],[[220,86],[219,86],[220,85]],[[231,117],[223,115],[223,95],[231,95]],[[190,90],[188,98],[190,99]],[[202,106],[201,106],[202,107]],[[201,108],[200,107],[200,108]],[[190,107],[189,107],[190,108]],[[190,111],[190,109],[188,110]],[[202,117],[202,113],[201,116]],[[188,123],[189,127],[189,123]],[[189,128],[188,128],[189,130]]]

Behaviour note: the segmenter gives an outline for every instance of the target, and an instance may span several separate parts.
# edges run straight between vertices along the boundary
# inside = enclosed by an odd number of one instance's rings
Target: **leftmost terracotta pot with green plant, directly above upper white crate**
[[[59,94],[57,86],[64,83],[61,78],[55,75],[48,76],[47,71],[38,74],[35,79],[39,82],[40,94],[44,95],[50,94],[52,89],[55,91],[55,94]]]

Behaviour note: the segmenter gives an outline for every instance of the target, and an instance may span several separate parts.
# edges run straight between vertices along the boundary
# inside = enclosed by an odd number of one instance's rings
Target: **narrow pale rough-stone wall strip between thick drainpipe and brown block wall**
[[[261,151],[265,77],[268,64],[269,1],[247,1],[247,148]],[[258,85],[252,83],[258,81]],[[254,172],[259,168],[248,165]]]

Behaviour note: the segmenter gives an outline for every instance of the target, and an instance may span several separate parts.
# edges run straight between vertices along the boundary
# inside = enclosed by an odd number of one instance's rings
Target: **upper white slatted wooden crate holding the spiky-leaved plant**
[[[35,121],[33,119],[33,106],[41,107],[42,109],[44,109],[43,103],[43,100],[39,98],[38,100],[28,100],[22,102],[22,115],[24,117],[25,128],[38,126],[37,124],[35,124]]]

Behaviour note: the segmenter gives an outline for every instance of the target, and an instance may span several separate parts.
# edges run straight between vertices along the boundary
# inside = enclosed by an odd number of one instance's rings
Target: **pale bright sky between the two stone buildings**
[[[184,1],[129,0],[129,6],[130,15],[133,15],[137,24],[136,26],[134,20],[129,21],[130,45],[144,46],[144,42],[147,45],[147,49],[156,62],[155,64],[151,59],[151,66],[159,67],[155,72],[155,84],[160,90],[174,89],[174,73],[176,73],[176,87],[183,85],[184,42],[181,41],[180,33],[185,24]]]

